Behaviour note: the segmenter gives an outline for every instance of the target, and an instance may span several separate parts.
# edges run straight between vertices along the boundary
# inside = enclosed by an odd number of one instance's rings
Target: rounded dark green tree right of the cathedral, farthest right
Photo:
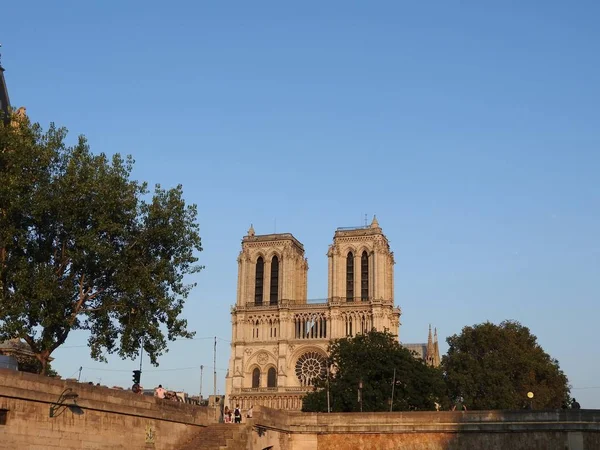
[[[569,399],[569,384],[527,327],[518,322],[490,322],[464,327],[447,339],[442,358],[448,391],[462,396],[469,409],[560,408]]]

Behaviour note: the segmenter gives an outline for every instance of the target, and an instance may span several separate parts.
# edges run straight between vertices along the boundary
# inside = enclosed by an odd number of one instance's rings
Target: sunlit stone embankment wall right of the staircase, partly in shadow
[[[255,407],[262,450],[598,450],[600,411],[316,414]]]

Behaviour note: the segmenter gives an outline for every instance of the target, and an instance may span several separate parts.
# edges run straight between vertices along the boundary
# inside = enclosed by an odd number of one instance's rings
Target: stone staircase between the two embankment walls
[[[181,450],[246,450],[251,430],[251,426],[245,423],[209,425],[181,447]]]

